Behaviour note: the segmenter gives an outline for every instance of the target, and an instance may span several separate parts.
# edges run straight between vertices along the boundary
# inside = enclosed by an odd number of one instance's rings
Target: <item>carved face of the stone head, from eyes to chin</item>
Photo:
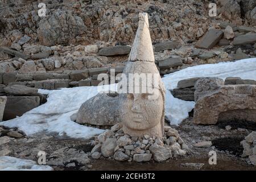
[[[146,130],[158,125],[163,114],[163,96],[158,89],[158,97],[148,99],[147,93],[127,93],[121,98],[121,119],[123,125],[133,130]]]

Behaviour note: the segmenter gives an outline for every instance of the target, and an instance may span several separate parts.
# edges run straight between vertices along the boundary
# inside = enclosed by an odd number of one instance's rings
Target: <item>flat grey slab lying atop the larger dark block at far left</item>
[[[25,85],[6,86],[5,93],[13,96],[31,96],[38,93],[38,89],[31,88]]]

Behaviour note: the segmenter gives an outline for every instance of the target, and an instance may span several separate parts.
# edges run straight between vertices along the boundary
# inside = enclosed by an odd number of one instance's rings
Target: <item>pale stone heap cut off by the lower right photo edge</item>
[[[242,158],[249,158],[251,164],[256,166],[256,132],[253,131],[245,140],[242,140],[241,145],[243,146]]]

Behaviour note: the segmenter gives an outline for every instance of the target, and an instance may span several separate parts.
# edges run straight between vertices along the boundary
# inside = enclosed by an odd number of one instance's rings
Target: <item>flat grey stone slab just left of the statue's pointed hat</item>
[[[98,55],[100,56],[116,56],[116,55],[127,55],[131,50],[130,46],[114,46],[105,47],[100,49]]]

